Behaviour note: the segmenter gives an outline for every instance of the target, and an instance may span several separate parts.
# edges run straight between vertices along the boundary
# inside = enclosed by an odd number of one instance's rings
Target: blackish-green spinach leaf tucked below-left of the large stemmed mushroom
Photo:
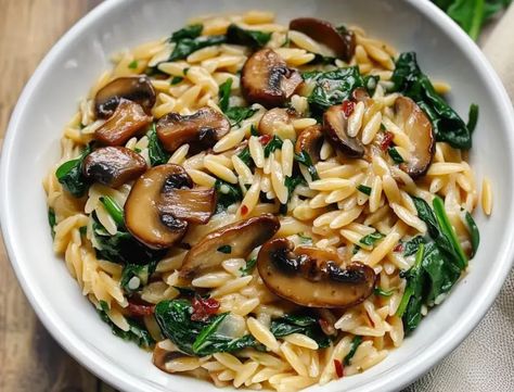
[[[118,230],[111,236],[93,213],[93,235],[97,256],[119,264],[149,264],[159,261],[166,250],[153,250],[139,242],[128,231]]]

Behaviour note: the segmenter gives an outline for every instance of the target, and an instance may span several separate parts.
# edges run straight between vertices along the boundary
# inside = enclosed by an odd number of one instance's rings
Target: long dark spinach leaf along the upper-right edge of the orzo
[[[391,77],[395,90],[414,100],[432,122],[436,140],[446,141],[455,149],[471,149],[470,129],[462,118],[436,92],[423,74],[414,52],[401,53]]]

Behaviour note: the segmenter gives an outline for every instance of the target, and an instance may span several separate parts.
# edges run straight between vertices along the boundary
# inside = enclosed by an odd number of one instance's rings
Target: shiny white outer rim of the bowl
[[[15,140],[15,129],[17,129],[20,126],[24,108],[28,98],[33,93],[35,85],[41,78],[43,73],[50,67],[57,53],[64,50],[74,37],[82,34],[82,31],[87,29],[88,26],[90,26],[94,21],[101,18],[102,14],[116,9],[121,3],[124,3],[124,1],[125,0],[107,0],[97,5],[89,13],[78,20],[54,43],[54,46],[48,51],[48,53],[39,63],[33,76],[24,87],[8,124],[0,161],[0,189],[8,189],[7,186],[9,184],[11,173],[10,162],[11,156],[13,155],[12,146]],[[504,123],[514,130],[514,110],[511,100],[502,83],[500,81],[499,76],[481,50],[448,15],[446,15],[432,2],[417,0],[403,1],[419,11],[423,17],[426,17],[433,22],[446,35],[451,36],[455,40],[455,45],[458,45],[462,50],[468,54],[474,55],[474,58],[477,60],[476,67],[478,72],[488,76],[489,83],[492,86],[491,89],[496,90],[498,93],[498,101],[501,104],[501,108],[499,109],[500,112],[503,113],[502,116]],[[506,138],[510,143],[510,150],[514,151],[514,135],[507,134]],[[513,215],[514,213],[511,208],[511,216]],[[43,299],[37,298],[35,295],[35,292],[30,288],[29,281],[26,279],[24,273],[24,262],[17,256],[16,248],[18,244],[15,243],[16,241],[11,237],[9,230],[9,228],[15,224],[15,220],[9,208],[8,192],[0,193],[0,223],[8,256],[16,278],[22,286],[22,289],[30,305],[35,309],[38,318],[42,321],[46,329],[59,342],[59,344],[92,374],[118,389],[138,392],[162,391],[162,389],[154,388],[142,379],[119,368],[103,357],[101,353],[97,352],[94,349],[78,339],[79,337],[76,336],[63,320],[59,319],[56,314],[49,312],[49,307]],[[413,357],[412,361],[406,364],[403,368],[396,370],[394,372],[396,378],[395,385],[387,384],[380,379],[374,379],[363,387],[356,388],[355,391],[388,391],[393,389],[401,389],[408,385],[427,372],[447,355],[449,355],[450,352],[452,352],[473,331],[473,329],[486,315],[487,311],[492,305],[492,302],[496,300],[514,262],[514,225],[507,228],[507,232],[505,233],[504,238],[505,242],[507,242],[504,246],[505,252],[498,254],[497,268],[490,278],[494,283],[483,289],[481,299],[478,300],[478,304],[474,307],[473,312],[461,316],[459,324],[455,324],[451,329],[440,336],[439,339],[434,341],[433,344],[431,344],[425,351]],[[390,377],[387,379],[390,379]]]

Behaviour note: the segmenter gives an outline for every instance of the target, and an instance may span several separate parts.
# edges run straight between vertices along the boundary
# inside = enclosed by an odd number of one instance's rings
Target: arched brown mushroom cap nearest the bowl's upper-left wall
[[[150,114],[155,104],[155,90],[146,76],[118,77],[97,92],[94,97],[97,117],[111,117],[124,98],[140,104],[144,112]]]

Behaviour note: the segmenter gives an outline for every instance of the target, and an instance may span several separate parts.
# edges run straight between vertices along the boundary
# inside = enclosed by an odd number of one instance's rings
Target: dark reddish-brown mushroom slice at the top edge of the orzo
[[[290,22],[290,29],[301,31],[313,40],[326,45],[344,61],[356,50],[356,36],[348,29],[337,29],[332,23],[316,17],[298,17]]]

